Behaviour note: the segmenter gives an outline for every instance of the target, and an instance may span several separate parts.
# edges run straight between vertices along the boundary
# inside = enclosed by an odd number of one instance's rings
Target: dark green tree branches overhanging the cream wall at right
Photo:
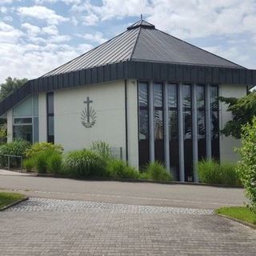
[[[219,98],[221,102],[228,104],[227,111],[233,115],[233,119],[226,122],[224,129],[221,131],[226,136],[241,138],[242,126],[246,123],[252,123],[252,119],[256,116],[256,92],[242,98]]]

